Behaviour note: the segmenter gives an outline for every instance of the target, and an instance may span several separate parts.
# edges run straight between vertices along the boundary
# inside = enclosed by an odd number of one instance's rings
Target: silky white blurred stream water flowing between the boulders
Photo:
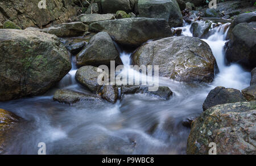
[[[72,70],[45,95],[0,103],[0,108],[24,119],[7,142],[5,154],[37,154],[39,142],[46,143],[47,154],[185,154],[190,129],[181,122],[203,112],[209,91],[216,86],[238,90],[249,86],[249,72],[236,64],[225,65],[225,26],[213,28],[204,39],[220,71],[214,82],[181,83],[160,78],[160,86],[174,92],[170,100],[138,93],[126,95],[116,104],[53,101],[57,88],[89,93],[76,83],[72,57]],[[190,25],[182,29],[182,35],[192,36]],[[125,69],[131,70],[131,53],[120,52]]]

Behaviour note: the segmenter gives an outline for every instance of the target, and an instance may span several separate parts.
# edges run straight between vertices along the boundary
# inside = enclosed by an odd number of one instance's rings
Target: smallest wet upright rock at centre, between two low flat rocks
[[[118,88],[117,86],[104,86],[102,93],[102,99],[109,101],[110,103],[115,103],[118,97]]]

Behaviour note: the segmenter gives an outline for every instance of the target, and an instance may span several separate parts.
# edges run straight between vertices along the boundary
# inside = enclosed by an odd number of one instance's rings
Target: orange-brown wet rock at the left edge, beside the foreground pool
[[[0,154],[2,154],[5,149],[5,142],[8,140],[7,133],[18,125],[20,120],[22,120],[22,118],[15,114],[0,109]]]

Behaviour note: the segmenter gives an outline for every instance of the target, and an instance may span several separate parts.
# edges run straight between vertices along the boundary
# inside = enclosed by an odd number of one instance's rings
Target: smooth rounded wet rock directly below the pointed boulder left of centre
[[[76,71],[76,80],[82,86],[88,88],[92,92],[99,92],[102,87],[98,84],[98,76],[102,70],[94,66],[83,66]]]

